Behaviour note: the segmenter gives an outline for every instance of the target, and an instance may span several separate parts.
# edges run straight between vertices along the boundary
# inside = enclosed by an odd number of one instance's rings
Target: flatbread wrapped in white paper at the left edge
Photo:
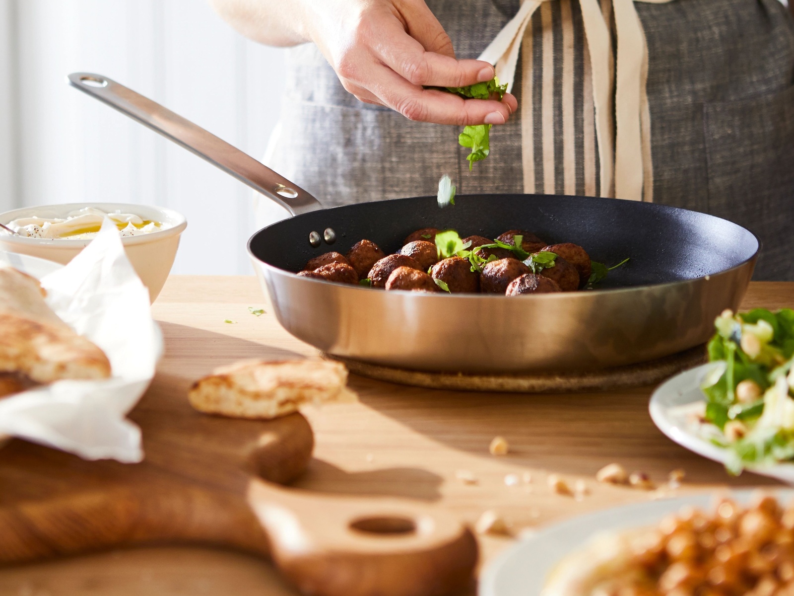
[[[45,293],[35,277],[0,268],[0,373],[43,384],[110,377],[105,353],[58,318]]]

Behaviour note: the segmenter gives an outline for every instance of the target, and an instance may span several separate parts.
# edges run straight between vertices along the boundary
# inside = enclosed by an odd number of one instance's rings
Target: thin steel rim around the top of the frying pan
[[[458,195],[458,197],[456,197],[456,198],[458,198],[458,199],[464,199],[466,197],[488,198],[488,197],[500,197],[500,196],[505,196],[505,195],[515,196],[515,195],[522,195],[522,194],[524,194],[524,193],[482,193],[482,194]],[[526,196],[538,197],[538,198],[541,198],[541,197],[549,198],[549,197],[551,197],[551,198],[555,198],[555,199],[564,199],[564,200],[565,199],[586,199],[588,201],[589,200],[595,200],[595,201],[600,201],[602,203],[609,203],[609,202],[614,202],[614,201],[626,201],[627,200],[627,199],[612,199],[610,197],[590,197],[590,196],[585,197],[585,196],[579,196],[579,195],[526,194]],[[410,200],[410,199],[415,199],[415,200],[419,200],[419,199],[431,200],[432,199],[432,200],[436,200],[436,197],[431,196],[431,195],[419,195],[419,196],[413,196],[413,197],[399,197],[399,198],[396,198],[396,199],[384,199],[383,201],[372,201],[372,203],[384,203],[384,202],[387,202],[387,201],[405,201],[405,200]],[[632,203],[634,203],[634,202],[632,201]],[[368,204],[368,203],[351,203],[349,205],[338,205],[336,207],[329,207],[327,209],[322,209],[322,211],[333,211],[333,210],[336,210],[336,209],[342,209],[342,208],[345,208],[345,207],[351,207],[353,205],[360,205],[360,204]],[[730,219],[725,219],[725,218],[719,217],[719,215],[711,215],[710,213],[703,213],[702,211],[692,211],[691,209],[684,209],[683,207],[673,207],[672,205],[662,205],[660,203],[637,202],[637,204],[646,206],[646,207],[641,207],[641,208],[659,209],[661,211],[684,211],[684,212],[687,212],[687,213],[696,214],[698,216],[719,219],[719,220],[721,220],[723,222],[730,223],[731,225],[737,226],[741,230],[744,230],[748,234],[750,234],[750,236],[752,236],[754,238],[755,242],[756,242],[756,249],[754,250],[754,253],[752,255],[750,255],[750,257],[747,257],[744,261],[741,261],[737,265],[734,265],[733,267],[730,267],[728,269],[721,269],[720,271],[717,271],[715,273],[708,273],[707,275],[703,275],[703,276],[699,276],[699,277],[691,277],[691,278],[683,279],[683,280],[660,281],[660,282],[653,283],[653,284],[631,285],[631,286],[626,286],[624,288],[598,288],[598,289],[592,289],[592,290],[577,290],[576,292],[549,292],[549,293],[544,293],[544,294],[526,294],[526,295],[521,295],[521,296],[505,296],[503,294],[483,294],[483,293],[455,293],[455,294],[452,294],[452,293],[447,293],[447,292],[412,292],[410,290],[391,290],[391,291],[389,291],[389,293],[391,295],[397,295],[397,296],[430,297],[431,299],[444,298],[445,300],[449,300],[449,299],[457,299],[457,300],[472,300],[472,299],[474,299],[474,300],[476,300],[476,299],[495,300],[495,299],[503,299],[503,298],[507,298],[507,297],[512,298],[512,299],[525,298],[525,299],[533,299],[533,300],[541,300],[541,299],[545,299],[545,300],[562,300],[563,297],[570,298],[572,296],[590,296],[593,293],[600,295],[600,294],[607,293],[607,292],[610,293],[610,294],[617,294],[617,293],[620,293],[620,292],[638,292],[639,290],[642,290],[642,289],[649,289],[649,288],[660,289],[660,288],[664,288],[665,286],[676,286],[676,285],[680,285],[680,284],[692,283],[692,282],[695,282],[695,281],[709,281],[712,277],[723,276],[723,275],[726,275],[726,274],[728,274],[730,272],[733,272],[733,271],[735,271],[737,269],[746,268],[750,264],[754,265],[755,261],[757,261],[759,255],[761,253],[762,246],[761,246],[760,238],[758,238],[757,235],[752,230],[749,230],[746,227],[739,225],[738,223],[731,222]],[[296,215],[295,217],[300,217],[300,215]],[[246,243],[246,250],[248,251],[249,257],[252,260],[258,261],[261,265],[264,265],[265,268],[267,268],[268,270],[272,271],[273,273],[286,274],[286,275],[290,275],[292,277],[296,277],[297,278],[297,277],[299,277],[297,273],[289,271],[287,269],[281,269],[280,267],[276,267],[276,265],[271,265],[267,261],[264,261],[260,257],[257,257],[256,254],[253,252],[252,247],[251,247],[254,238],[256,238],[259,234],[263,233],[265,230],[269,230],[272,226],[279,225],[279,223],[282,223],[283,221],[284,220],[280,220],[279,222],[271,223],[270,225],[264,226],[260,230],[257,230],[256,232],[254,232],[251,235],[251,237],[249,238],[249,241]],[[302,277],[301,281],[302,282],[303,281],[309,281],[309,282],[318,283],[318,284],[333,284],[334,286],[338,286],[338,287],[342,287],[342,288],[348,288],[348,289],[360,290],[362,292],[372,292],[373,291],[373,288],[367,288],[367,287],[360,286],[360,285],[353,286],[353,284],[343,284],[343,283],[336,282],[336,281],[318,280],[318,279],[313,279],[311,277]],[[374,290],[374,291],[377,292],[377,290]]]

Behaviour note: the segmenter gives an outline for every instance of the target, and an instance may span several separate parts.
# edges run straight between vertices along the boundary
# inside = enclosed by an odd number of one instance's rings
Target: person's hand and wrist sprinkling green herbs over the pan
[[[302,0],[305,35],[342,85],[365,103],[410,120],[503,124],[518,109],[513,95],[463,99],[425,87],[464,87],[491,80],[481,60],[456,60],[452,41],[424,0]]]

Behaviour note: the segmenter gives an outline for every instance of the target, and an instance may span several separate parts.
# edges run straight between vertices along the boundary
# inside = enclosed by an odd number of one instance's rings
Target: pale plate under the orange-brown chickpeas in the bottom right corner
[[[746,502],[752,493],[752,490],[736,490],[730,495]],[[779,490],[776,494],[784,502],[794,497],[792,490]],[[557,563],[602,532],[656,524],[684,505],[707,509],[713,497],[712,493],[703,493],[623,505],[541,530],[504,551],[485,569],[480,578],[480,596],[538,596]]]

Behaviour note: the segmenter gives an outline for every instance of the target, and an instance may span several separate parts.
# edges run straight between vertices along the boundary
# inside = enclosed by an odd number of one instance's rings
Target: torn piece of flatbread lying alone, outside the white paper
[[[276,418],[303,404],[356,401],[341,362],[249,360],[222,366],[196,381],[188,397],[199,412],[237,418]]]

